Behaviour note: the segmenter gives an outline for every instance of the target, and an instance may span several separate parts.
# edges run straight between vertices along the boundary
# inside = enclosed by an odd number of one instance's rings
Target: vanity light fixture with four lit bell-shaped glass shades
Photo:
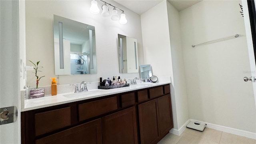
[[[100,0],[100,1],[104,2],[103,0]],[[102,16],[109,16],[110,15],[110,12],[109,12],[109,9],[108,9],[109,6],[114,7],[113,10],[112,10],[111,20],[114,20],[114,21],[119,20],[120,24],[126,24],[127,20],[126,20],[126,15],[124,14],[124,11],[121,10],[120,8],[117,8],[117,7],[107,3],[107,2],[104,2],[104,4],[102,5],[101,15]],[[122,14],[120,15],[120,19],[119,19],[118,12],[117,12],[116,9],[122,11]],[[90,12],[92,12],[92,14],[98,14],[100,12],[100,9],[98,8],[98,2],[96,2],[96,0],[91,1]]]

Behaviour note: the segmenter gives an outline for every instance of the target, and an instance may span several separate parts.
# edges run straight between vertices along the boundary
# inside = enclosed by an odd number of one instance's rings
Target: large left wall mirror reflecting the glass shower
[[[55,74],[96,74],[95,27],[54,15]]]

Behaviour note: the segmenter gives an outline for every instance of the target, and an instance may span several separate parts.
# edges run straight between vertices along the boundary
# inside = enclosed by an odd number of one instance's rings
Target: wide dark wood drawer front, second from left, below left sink
[[[79,121],[117,110],[117,98],[105,98],[85,104],[78,104]]]

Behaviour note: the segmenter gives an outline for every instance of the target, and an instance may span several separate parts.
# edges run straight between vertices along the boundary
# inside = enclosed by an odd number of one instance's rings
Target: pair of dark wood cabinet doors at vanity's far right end
[[[138,105],[141,144],[156,144],[172,128],[170,94]]]

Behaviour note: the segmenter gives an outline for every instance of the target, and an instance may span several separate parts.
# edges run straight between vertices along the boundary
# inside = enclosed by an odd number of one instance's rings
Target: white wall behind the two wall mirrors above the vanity
[[[44,66],[39,76],[46,77],[40,80],[39,86],[50,85],[50,77],[56,77],[53,14],[95,26],[96,33],[97,74],[60,76],[60,84],[80,83],[82,80],[96,82],[100,77],[121,76],[126,79],[139,77],[139,73],[119,74],[118,34],[137,38],[139,65],[144,64],[140,16],[114,1],[107,2],[124,10],[127,24],[119,24],[118,21],[112,21],[110,17],[102,17],[101,14],[91,14],[90,0],[26,1],[26,57],[34,62],[40,60],[40,66]],[[102,4],[98,1],[99,8]],[[119,11],[118,13],[120,14]],[[34,74],[28,72],[28,85],[34,86],[35,82]]]

